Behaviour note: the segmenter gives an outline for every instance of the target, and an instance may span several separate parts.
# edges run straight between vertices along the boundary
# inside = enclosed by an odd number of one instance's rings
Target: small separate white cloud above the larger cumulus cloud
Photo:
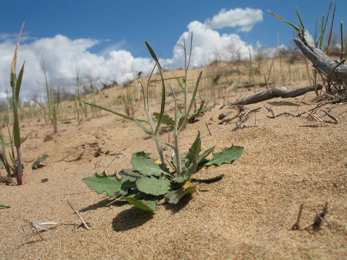
[[[223,27],[241,27],[238,31],[249,32],[254,24],[263,20],[263,11],[252,8],[236,8],[226,11],[220,10],[218,15],[212,19],[207,19],[205,24],[211,29],[221,29]]]

